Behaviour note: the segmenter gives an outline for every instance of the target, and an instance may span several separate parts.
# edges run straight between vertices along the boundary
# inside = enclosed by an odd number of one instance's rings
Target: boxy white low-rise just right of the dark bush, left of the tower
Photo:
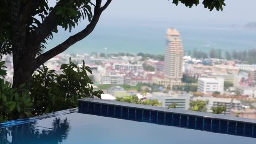
[[[124,78],[120,75],[103,75],[101,76],[101,84],[122,85]]]

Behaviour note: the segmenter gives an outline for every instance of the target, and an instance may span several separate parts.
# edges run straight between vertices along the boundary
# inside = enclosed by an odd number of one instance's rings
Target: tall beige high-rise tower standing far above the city
[[[164,75],[170,80],[170,86],[181,85],[183,48],[179,31],[168,28],[166,32]]]

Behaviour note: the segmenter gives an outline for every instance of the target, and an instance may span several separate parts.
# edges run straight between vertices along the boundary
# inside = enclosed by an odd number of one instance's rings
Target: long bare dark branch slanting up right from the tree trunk
[[[56,47],[52,48],[51,50],[38,56],[35,59],[35,61],[36,61],[35,69],[37,69],[38,67],[40,67],[40,65],[42,65],[49,59],[53,58],[54,56],[58,55],[59,53],[62,53],[63,51],[67,50],[67,48],[69,48],[71,45],[77,43],[78,41],[80,41],[83,38],[85,38],[86,36],[88,36],[93,31],[96,24],[98,23],[101,13],[107,8],[107,6],[109,5],[109,3],[111,1],[112,0],[107,0],[107,3],[105,3],[105,5],[103,7],[101,7],[101,0],[96,0],[94,14],[93,14],[93,18],[92,18],[90,24],[88,24],[85,27],[85,29],[83,29],[82,31],[69,37],[63,43],[57,45]]]

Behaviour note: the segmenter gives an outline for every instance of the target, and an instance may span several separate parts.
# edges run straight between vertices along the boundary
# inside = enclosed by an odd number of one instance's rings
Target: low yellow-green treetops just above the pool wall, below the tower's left
[[[138,99],[137,96],[132,95],[132,96],[124,96],[124,97],[116,97],[117,101],[122,101],[122,102],[129,102],[129,103],[134,103],[134,104],[145,104],[145,105],[151,105],[151,106],[161,106],[162,104],[157,101],[157,99],[149,100],[140,100]]]

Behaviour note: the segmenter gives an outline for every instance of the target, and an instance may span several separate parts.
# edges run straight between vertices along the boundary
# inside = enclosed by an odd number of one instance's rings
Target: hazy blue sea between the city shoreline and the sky
[[[195,48],[202,51],[209,51],[211,48],[223,51],[256,48],[256,29],[244,27],[189,24],[99,24],[88,37],[72,45],[64,53],[163,54],[166,44],[165,32],[168,27],[179,30],[185,51]],[[77,27],[71,33],[59,30],[59,33],[54,35],[54,40],[48,41],[47,48],[56,46],[81,29],[82,27]]]

